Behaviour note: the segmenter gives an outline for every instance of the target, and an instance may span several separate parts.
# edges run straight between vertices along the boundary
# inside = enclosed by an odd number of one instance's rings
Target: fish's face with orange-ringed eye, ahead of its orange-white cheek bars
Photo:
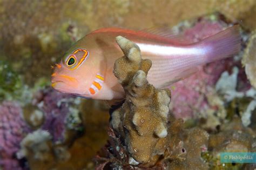
[[[83,47],[71,47],[52,73],[53,89],[62,92],[91,98],[90,86],[95,77],[96,63],[90,58],[93,52]]]

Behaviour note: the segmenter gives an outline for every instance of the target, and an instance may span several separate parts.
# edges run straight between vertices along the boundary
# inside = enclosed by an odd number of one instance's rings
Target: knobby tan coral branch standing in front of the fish
[[[113,112],[111,124],[125,138],[132,157],[147,163],[156,152],[157,143],[167,135],[171,92],[157,90],[147,82],[152,63],[142,59],[136,44],[121,36],[117,37],[117,43],[125,56],[116,60],[113,72],[124,87],[126,100]],[[164,148],[163,145],[161,149]]]

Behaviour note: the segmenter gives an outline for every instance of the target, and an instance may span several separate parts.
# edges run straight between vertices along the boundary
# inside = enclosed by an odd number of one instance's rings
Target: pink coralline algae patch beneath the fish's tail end
[[[221,72],[225,70],[222,62],[227,60],[201,66],[196,74],[174,84],[171,103],[177,118],[192,118],[194,112],[208,106],[205,93],[214,87]]]

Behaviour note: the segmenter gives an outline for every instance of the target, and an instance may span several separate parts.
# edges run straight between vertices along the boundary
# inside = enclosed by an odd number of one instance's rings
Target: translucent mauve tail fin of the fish
[[[234,25],[200,42],[201,45],[210,49],[207,53],[206,63],[231,57],[240,51],[241,35],[239,28],[239,25]]]

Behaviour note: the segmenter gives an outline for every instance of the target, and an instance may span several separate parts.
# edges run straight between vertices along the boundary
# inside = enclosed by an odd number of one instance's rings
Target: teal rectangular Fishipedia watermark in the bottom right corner
[[[221,163],[256,163],[256,152],[222,152]]]

